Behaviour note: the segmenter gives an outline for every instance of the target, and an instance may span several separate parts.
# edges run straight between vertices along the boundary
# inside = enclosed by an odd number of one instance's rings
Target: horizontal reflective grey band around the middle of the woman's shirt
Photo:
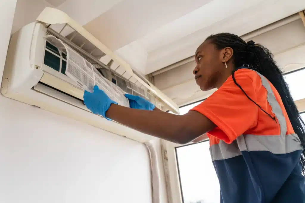
[[[242,154],[242,151],[268,151],[273,154],[287,154],[302,150],[300,139],[291,135],[241,135],[231,144],[220,141],[210,147],[212,161],[229,159]]]

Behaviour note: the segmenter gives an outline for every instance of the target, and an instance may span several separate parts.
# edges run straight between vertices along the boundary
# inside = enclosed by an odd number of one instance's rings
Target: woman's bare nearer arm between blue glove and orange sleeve
[[[216,127],[196,111],[175,115],[161,110],[138,110],[111,104],[106,117],[145,134],[179,144],[191,142]]]

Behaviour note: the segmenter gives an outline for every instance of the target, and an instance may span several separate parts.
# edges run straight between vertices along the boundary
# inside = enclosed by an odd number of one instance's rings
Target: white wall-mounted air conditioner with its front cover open
[[[92,70],[88,74],[94,75],[94,81],[100,87],[103,84],[107,86],[108,93],[120,100],[121,105],[128,106],[128,100],[124,101],[124,93],[130,93],[144,97],[159,108],[179,112],[178,106],[170,98],[82,26],[64,12],[48,7],[41,12],[36,22],[12,35],[1,93],[117,135],[140,142],[151,140],[149,135],[107,121],[86,108],[83,94],[84,89],[92,89],[92,81],[88,82],[92,78],[78,69],[71,69],[70,65],[67,67],[67,62],[73,64],[73,57],[83,58],[83,62]],[[70,71],[67,71],[69,68]]]

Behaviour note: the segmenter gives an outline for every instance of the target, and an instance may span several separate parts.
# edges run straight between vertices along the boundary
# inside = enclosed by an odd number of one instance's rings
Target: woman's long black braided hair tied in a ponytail
[[[276,65],[273,54],[264,46],[260,44],[255,44],[253,41],[245,42],[237,35],[231,33],[220,33],[209,36],[206,40],[211,40],[213,44],[217,47],[217,49],[223,49],[225,47],[231,47],[233,49],[233,64],[235,68],[239,68],[241,66],[247,66],[247,68],[255,70],[260,74],[264,75],[271,84],[278,91],[279,95],[282,98],[282,102],[288,114],[289,120],[292,124],[293,130],[300,138],[300,141],[305,147],[305,130],[304,130],[304,121],[300,117],[299,111],[296,108],[296,104],[294,103],[292,96],[289,91],[289,87],[284,80],[282,71]],[[243,93],[245,91],[242,87],[236,82],[234,77],[234,72],[232,72],[232,77],[234,83],[242,90]],[[249,98],[249,96],[245,93],[245,95]],[[251,98],[249,98],[253,101]],[[254,101],[253,101],[254,102]],[[254,102],[255,103],[255,102]],[[259,106],[256,103],[257,106]],[[260,106],[259,106],[260,107]],[[261,110],[263,110],[260,107]],[[268,114],[265,110],[263,110],[266,114]],[[268,114],[270,117],[271,115]],[[271,117],[273,118],[273,117]],[[273,118],[275,120],[275,118]],[[305,149],[305,148],[304,148]],[[305,150],[303,150],[300,163],[302,166],[302,173],[305,173]]]

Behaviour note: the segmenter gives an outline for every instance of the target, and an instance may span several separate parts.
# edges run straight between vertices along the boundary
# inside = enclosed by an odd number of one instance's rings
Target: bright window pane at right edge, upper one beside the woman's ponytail
[[[304,99],[305,69],[288,73],[284,76],[284,78],[289,86],[292,99],[294,101]]]

